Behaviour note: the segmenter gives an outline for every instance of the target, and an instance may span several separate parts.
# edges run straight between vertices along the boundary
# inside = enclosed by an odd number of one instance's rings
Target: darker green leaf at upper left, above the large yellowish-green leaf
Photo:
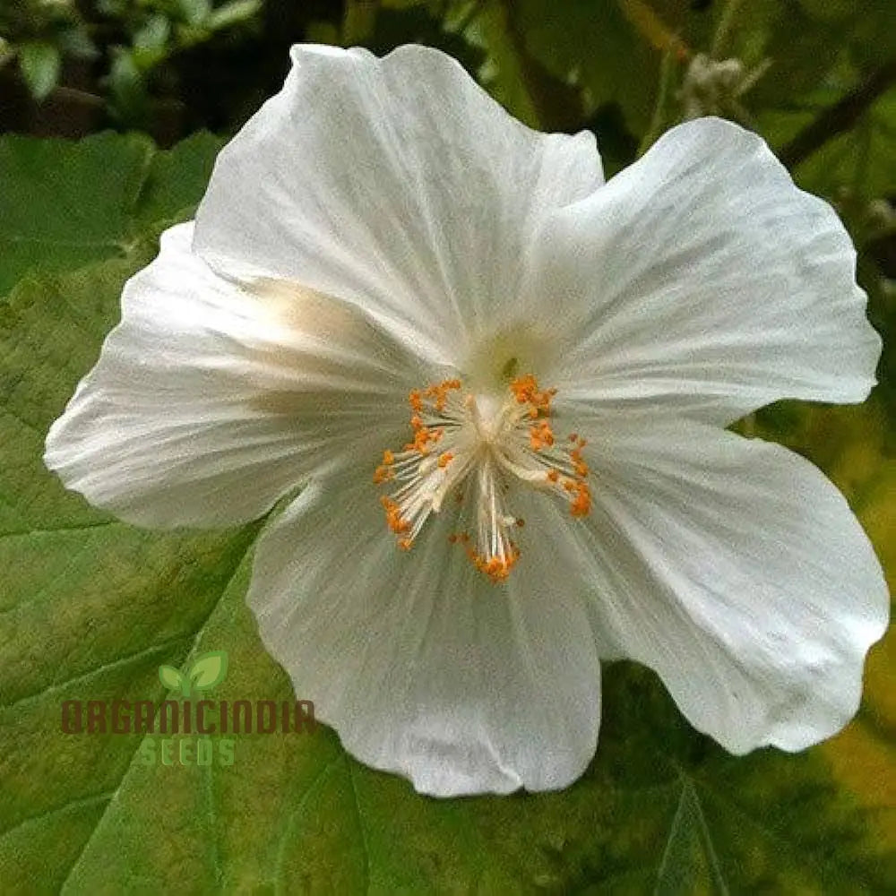
[[[0,297],[29,271],[124,257],[152,224],[189,217],[219,150],[211,134],[166,152],[116,134],[0,138]]]

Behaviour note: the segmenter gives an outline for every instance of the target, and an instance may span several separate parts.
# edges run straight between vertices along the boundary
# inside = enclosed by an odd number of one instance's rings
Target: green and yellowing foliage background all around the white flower
[[[40,454],[125,278],[303,40],[440,47],[527,124],[590,128],[610,175],[687,117],[762,134],[849,228],[884,352],[865,405],[741,428],[822,467],[896,582],[893,0],[0,0],[0,889],[896,892],[892,634],[857,719],[796,757],[731,759],[610,668],[598,756],[556,795],[435,803],[329,734],[249,738],[211,783],[58,736],[61,694],[161,699],[159,663],[195,650],[230,651],[231,696],[291,693],[243,605],[257,529],[133,530]]]

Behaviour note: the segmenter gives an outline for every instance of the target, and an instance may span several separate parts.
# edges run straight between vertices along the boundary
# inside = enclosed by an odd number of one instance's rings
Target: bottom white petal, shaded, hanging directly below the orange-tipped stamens
[[[582,600],[538,545],[491,584],[448,543],[451,517],[399,551],[372,486],[315,481],[257,547],[263,642],[350,753],[422,793],[563,788],[599,724]]]

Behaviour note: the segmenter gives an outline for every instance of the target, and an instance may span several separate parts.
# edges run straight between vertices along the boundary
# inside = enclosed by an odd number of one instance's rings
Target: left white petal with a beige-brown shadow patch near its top
[[[345,303],[222,280],[192,237],[192,224],[168,230],[125,285],[121,323],[47,435],[47,467],[151,526],[252,520],[349,456],[373,470],[407,428],[416,367]]]

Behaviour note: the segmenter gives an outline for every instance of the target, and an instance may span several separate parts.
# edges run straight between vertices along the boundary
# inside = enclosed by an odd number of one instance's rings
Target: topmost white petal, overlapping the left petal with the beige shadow
[[[219,156],[198,251],[348,299],[460,363],[488,322],[523,318],[536,231],[602,182],[593,136],[530,131],[435,49],[292,57],[283,90]]]

